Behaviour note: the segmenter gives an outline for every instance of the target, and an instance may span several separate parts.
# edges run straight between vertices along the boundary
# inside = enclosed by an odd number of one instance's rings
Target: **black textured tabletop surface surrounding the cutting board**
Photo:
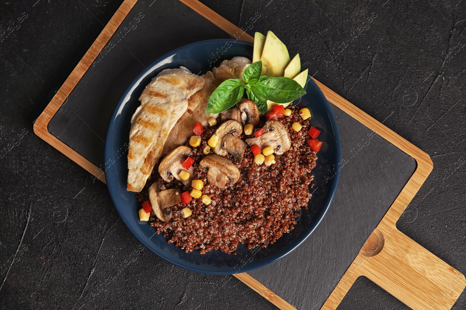
[[[34,136],[32,122],[119,5],[81,2],[0,4],[0,33],[17,28],[0,42],[0,307],[276,309],[233,277],[187,272],[138,248],[105,185]],[[316,79],[379,121],[391,115],[384,124],[431,155],[434,170],[398,228],[465,273],[466,56],[456,47],[466,43],[465,4],[205,3],[239,26],[263,14],[251,33],[273,29]],[[370,28],[329,56],[372,12]],[[465,307],[463,294],[453,309]],[[338,309],[407,307],[361,278]]]

